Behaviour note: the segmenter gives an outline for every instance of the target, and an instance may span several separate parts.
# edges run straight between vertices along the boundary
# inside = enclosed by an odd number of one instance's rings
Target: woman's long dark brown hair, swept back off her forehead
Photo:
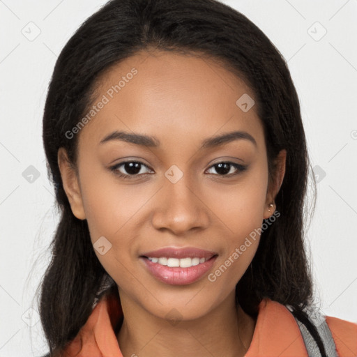
[[[262,232],[257,253],[236,286],[237,303],[256,317],[260,301],[268,297],[290,305],[296,316],[305,319],[303,308],[313,300],[304,234],[310,163],[287,62],[255,24],[218,1],[112,0],[68,40],[56,61],[45,102],[43,143],[61,212],[50,247],[52,260],[40,284],[40,317],[49,356],[63,351],[77,335],[103,284],[114,284],[93,251],[86,220],[78,220],[71,211],[57,152],[65,148],[76,165],[77,135],[69,139],[66,132],[93,104],[99,76],[151,48],[206,56],[249,84],[264,126],[271,179],[275,158],[287,150],[284,181],[275,197],[280,217]]]

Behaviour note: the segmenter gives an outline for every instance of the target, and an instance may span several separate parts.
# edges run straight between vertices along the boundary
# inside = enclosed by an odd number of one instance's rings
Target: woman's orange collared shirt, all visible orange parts
[[[104,296],[63,357],[123,357],[114,333],[123,312],[115,296]],[[326,317],[340,357],[357,356],[357,324]],[[265,298],[245,357],[307,357],[298,324],[287,307]]]

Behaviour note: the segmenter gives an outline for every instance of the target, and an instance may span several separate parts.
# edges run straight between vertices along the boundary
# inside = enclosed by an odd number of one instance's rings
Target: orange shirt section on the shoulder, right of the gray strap
[[[331,316],[326,322],[340,356],[357,356],[357,324]]]

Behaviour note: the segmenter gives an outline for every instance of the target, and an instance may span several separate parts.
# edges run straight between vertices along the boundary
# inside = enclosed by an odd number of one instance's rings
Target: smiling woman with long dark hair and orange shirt
[[[356,324],[309,314],[298,97],[241,13],[109,1],[59,56],[43,140],[48,356],[356,355]]]

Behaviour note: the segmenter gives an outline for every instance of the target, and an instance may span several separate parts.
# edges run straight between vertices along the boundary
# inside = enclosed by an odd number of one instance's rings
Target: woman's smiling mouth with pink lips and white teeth
[[[172,285],[192,284],[213,266],[218,254],[197,248],[162,248],[140,255],[146,270],[160,282]]]

